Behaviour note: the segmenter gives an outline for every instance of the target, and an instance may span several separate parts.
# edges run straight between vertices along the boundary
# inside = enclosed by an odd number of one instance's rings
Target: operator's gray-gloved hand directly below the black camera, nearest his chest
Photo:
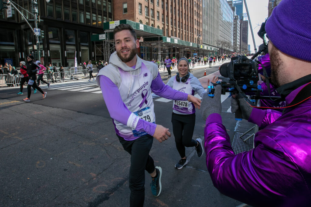
[[[235,97],[232,95],[231,99],[231,113],[235,113],[239,108],[241,109],[242,119],[248,120],[251,116],[253,107],[250,106],[244,98]]]

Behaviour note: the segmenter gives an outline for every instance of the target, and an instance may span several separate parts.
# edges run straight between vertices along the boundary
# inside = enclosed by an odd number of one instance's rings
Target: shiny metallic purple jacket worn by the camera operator
[[[254,108],[248,121],[262,128],[255,135],[255,148],[234,155],[220,115],[208,116],[204,146],[214,186],[253,206],[311,206],[311,99],[283,114]]]

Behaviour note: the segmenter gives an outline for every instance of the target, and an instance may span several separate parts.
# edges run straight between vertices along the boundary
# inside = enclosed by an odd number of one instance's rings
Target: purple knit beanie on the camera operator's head
[[[282,0],[266,23],[268,38],[277,49],[311,61],[311,0]]]

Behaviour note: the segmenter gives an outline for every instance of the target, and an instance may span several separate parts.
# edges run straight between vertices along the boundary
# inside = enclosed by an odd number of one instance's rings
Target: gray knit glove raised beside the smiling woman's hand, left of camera
[[[208,93],[204,93],[200,111],[203,120],[205,121],[210,114],[221,113],[221,86],[217,85],[215,88],[214,98],[208,96]]]

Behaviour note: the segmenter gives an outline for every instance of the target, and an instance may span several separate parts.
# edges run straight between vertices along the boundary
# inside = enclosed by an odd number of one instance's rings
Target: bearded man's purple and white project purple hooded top
[[[188,94],[163,83],[154,63],[137,56],[136,65],[129,67],[116,52],[111,54],[105,70],[99,71],[96,82],[102,90],[115,131],[125,140],[155,133],[151,91],[167,99],[185,101],[188,98]]]

